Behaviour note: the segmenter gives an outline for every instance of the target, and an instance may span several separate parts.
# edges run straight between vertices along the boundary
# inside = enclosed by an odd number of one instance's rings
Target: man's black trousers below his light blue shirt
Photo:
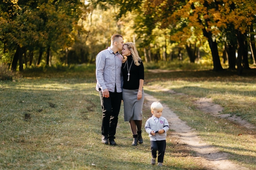
[[[102,108],[101,134],[108,138],[115,138],[118,115],[121,107],[122,93],[109,92],[109,97],[103,97],[99,91]]]

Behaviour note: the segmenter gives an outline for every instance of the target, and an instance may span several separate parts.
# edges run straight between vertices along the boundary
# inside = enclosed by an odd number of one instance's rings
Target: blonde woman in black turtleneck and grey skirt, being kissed
[[[132,130],[133,146],[143,143],[141,136],[142,106],[144,102],[144,66],[135,44],[126,42],[123,46],[122,73],[124,77],[123,100],[124,121],[129,121]]]

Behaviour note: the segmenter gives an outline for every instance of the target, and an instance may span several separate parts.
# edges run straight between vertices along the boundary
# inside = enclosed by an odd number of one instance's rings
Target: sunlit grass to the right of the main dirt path
[[[164,81],[150,79],[145,85],[147,93],[167,104],[180,119],[187,122],[205,142],[220,151],[231,154],[229,159],[256,168],[256,133],[254,130],[213,117],[197,109],[195,101],[210,97],[215,104],[224,108],[223,114],[237,115],[256,126],[256,77],[209,76],[192,78],[188,74],[161,73]],[[153,74],[150,74],[152,77]],[[167,77],[170,77],[169,79]],[[175,91],[169,92],[167,90]]]

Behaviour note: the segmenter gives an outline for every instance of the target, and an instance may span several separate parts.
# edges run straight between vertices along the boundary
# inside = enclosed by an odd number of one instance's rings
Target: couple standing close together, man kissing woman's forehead
[[[122,51],[122,55],[118,51]],[[120,34],[112,35],[110,47],[96,57],[96,79],[102,108],[101,142],[116,145],[114,139],[123,99],[124,121],[130,123],[132,145],[142,144],[144,66],[135,44],[124,43]]]

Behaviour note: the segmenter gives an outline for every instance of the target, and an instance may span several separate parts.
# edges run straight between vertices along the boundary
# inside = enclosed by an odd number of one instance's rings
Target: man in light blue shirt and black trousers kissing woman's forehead
[[[119,54],[124,40],[120,34],[111,37],[111,45],[96,56],[96,90],[99,91],[102,108],[101,142],[116,145],[115,134],[122,99],[121,66],[123,56]]]

